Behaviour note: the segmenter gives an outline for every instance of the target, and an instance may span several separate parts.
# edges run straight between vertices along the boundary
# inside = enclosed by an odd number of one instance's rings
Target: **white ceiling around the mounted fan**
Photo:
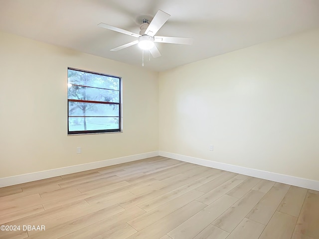
[[[0,0],[0,30],[97,56],[142,64],[135,37],[98,27],[104,22],[139,33],[158,9],[171,17],[157,35],[191,37],[192,45],[156,43],[161,57],[145,68],[164,71],[285,35],[319,27],[319,0]]]

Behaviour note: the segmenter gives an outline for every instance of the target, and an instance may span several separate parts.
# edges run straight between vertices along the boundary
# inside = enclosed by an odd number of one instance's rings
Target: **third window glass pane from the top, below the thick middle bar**
[[[69,116],[119,117],[119,105],[69,102]]]

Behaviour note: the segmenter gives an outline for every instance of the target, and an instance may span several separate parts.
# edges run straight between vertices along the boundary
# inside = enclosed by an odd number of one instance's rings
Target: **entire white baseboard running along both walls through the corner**
[[[111,165],[120,164],[120,163],[136,161],[136,160],[155,157],[155,156],[163,156],[163,157],[177,159],[180,161],[194,163],[194,164],[198,164],[198,165],[202,165],[202,166],[206,166],[210,168],[217,168],[217,169],[221,169],[221,170],[225,170],[229,172],[244,174],[247,176],[262,178],[266,180],[271,180],[275,182],[290,184],[290,185],[294,185],[298,187],[303,187],[303,188],[319,191],[319,181],[305,179],[305,178],[298,178],[294,176],[278,174],[273,172],[267,172],[267,171],[262,171],[258,169],[253,169],[253,168],[245,168],[241,166],[214,162],[214,161],[210,161],[206,159],[194,158],[190,156],[169,153],[164,151],[154,151],[154,152],[130,155],[126,157],[97,161],[92,163],[74,165],[74,166],[69,166],[64,168],[56,168],[56,169],[51,169],[51,170],[46,170],[41,172],[34,172],[34,173],[28,173],[23,175],[0,178],[0,188],[10,186],[10,185],[20,184],[20,183],[26,183],[26,182],[61,176],[61,175],[70,174],[70,173],[102,168],[102,167],[111,166]]]

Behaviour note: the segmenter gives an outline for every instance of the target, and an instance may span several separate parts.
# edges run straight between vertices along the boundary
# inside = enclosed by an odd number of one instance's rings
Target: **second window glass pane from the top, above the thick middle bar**
[[[119,103],[120,92],[81,86],[69,86],[68,99]]]

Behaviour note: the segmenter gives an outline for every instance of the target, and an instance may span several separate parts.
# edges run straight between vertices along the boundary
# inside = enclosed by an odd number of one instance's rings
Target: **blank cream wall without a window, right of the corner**
[[[159,79],[161,151],[319,181],[319,29]]]

